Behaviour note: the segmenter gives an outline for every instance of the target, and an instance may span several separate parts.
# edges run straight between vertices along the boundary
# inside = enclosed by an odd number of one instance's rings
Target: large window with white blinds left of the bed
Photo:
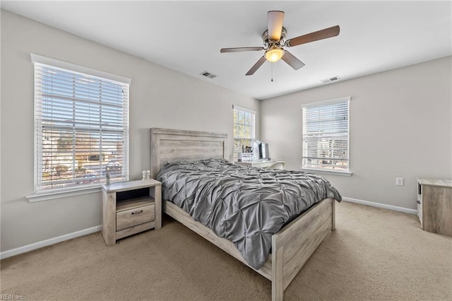
[[[107,173],[112,181],[129,179],[130,81],[35,54],[31,57],[35,64],[35,192],[99,185]]]

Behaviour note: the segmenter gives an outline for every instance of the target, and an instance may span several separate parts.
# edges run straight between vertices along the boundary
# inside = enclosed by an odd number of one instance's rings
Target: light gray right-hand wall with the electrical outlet
[[[415,209],[416,177],[452,178],[451,66],[446,57],[263,100],[261,138],[299,169],[302,104],[351,96],[353,175],[323,176],[345,197]]]

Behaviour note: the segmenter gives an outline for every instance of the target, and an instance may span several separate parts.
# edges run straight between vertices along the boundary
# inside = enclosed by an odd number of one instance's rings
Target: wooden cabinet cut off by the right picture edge
[[[417,179],[417,216],[422,230],[452,236],[451,179]]]

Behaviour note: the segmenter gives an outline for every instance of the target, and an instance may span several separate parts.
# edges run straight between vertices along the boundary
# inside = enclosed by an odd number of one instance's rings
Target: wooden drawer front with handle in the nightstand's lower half
[[[155,220],[155,204],[141,206],[116,213],[116,230],[124,230]]]

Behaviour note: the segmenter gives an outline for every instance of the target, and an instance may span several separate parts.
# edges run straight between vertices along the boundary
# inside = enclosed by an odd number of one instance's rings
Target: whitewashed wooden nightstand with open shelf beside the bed
[[[102,236],[117,240],[162,228],[162,184],[155,179],[102,184]]]

